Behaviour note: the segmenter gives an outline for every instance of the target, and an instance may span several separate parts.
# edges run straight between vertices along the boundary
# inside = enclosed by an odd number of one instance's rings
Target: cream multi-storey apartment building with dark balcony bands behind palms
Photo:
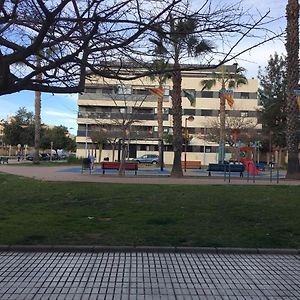
[[[228,68],[235,70],[234,65]],[[211,90],[202,90],[201,85],[201,81],[209,79],[213,71],[182,71],[182,126],[189,134],[189,143],[186,148],[183,146],[183,150],[186,150],[187,160],[201,161],[202,164],[218,161],[218,143],[208,139],[206,133],[212,126],[216,126],[219,119],[221,86],[216,84]],[[158,87],[158,83],[148,77],[126,82],[90,77],[85,92],[78,98],[77,156],[86,157],[92,152],[96,153],[97,161],[105,157],[116,160],[118,147],[114,142],[124,136],[128,145],[128,158],[146,153],[158,154],[157,96],[150,92],[153,87]],[[235,89],[233,106],[226,105],[227,118],[243,119],[260,129],[256,112],[257,89],[256,79],[248,79],[247,85]],[[164,84],[163,97],[163,127],[165,135],[169,136],[172,135],[173,122],[171,91],[172,82],[169,80]],[[186,97],[186,92],[194,94],[193,105]],[[104,145],[101,157],[92,139],[93,132],[99,128],[110,133],[111,137],[111,143]],[[126,135],[122,135],[120,128],[123,128]],[[172,145],[166,141],[164,144],[164,161],[171,164]]]

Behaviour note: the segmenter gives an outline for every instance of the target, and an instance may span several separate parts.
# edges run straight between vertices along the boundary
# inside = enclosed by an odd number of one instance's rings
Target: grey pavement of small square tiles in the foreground
[[[0,299],[300,299],[299,255],[1,252]]]

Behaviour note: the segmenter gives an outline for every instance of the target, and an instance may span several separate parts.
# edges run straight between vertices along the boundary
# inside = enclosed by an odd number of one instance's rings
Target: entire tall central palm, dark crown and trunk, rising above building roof
[[[174,160],[171,171],[172,177],[182,177],[182,99],[181,99],[181,59],[190,56],[199,56],[212,50],[212,45],[206,40],[199,39],[195,34],[198,20],[190,16],[175,19],[169,15],[166,24],[167,30],[159,30],[159,38],[154,42],[161,49],[161,53],[173,60],[172,72],[172,114],[173,114],[173,152]]]

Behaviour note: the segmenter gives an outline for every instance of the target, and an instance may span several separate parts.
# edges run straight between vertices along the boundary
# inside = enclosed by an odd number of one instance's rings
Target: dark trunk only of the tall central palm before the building
[[[171,177],[182,177],[181,153],[182,153],[182,101],[181,101],[181,71],[178,63],[174,64],[173,91],[172,91],[172,113],[173,113],[173,151],[174,161]]]

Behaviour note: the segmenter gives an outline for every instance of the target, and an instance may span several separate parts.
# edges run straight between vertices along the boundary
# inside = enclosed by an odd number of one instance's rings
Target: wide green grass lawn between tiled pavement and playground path
[[[0,244],[300,247],[300,186],[42,182],[0,173]]]

